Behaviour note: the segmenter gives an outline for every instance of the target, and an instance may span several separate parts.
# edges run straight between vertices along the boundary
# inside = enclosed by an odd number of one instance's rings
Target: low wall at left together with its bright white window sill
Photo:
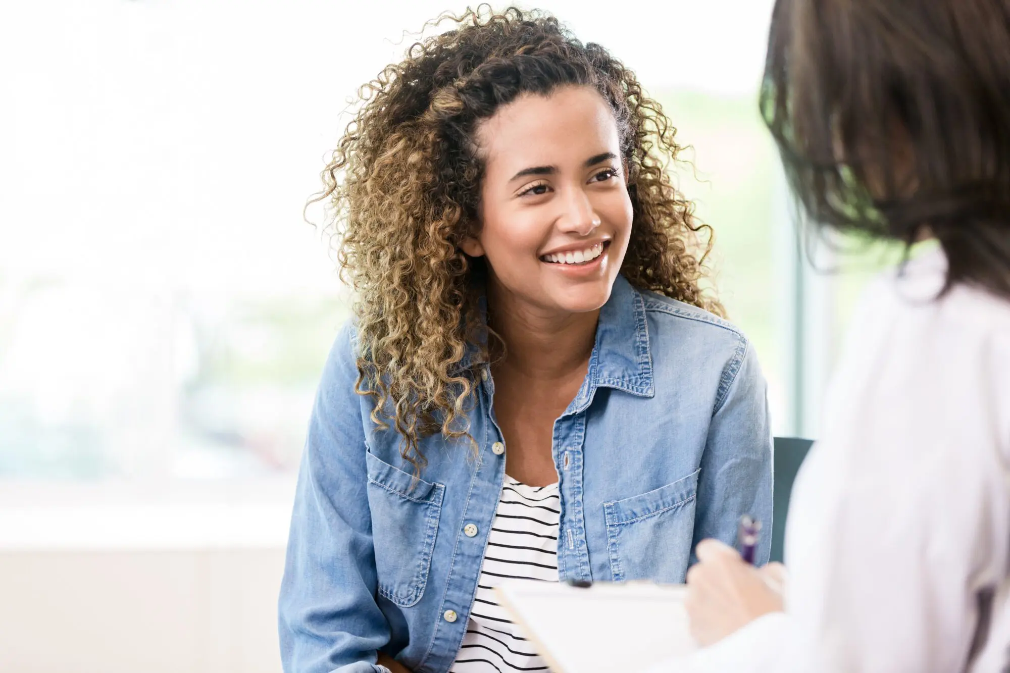
[[[280,673],[294,483],[0,487],[0,673]]]

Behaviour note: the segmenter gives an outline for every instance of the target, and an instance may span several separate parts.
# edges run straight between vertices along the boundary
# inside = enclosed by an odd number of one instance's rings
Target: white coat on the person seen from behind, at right
[[[1010,671],[1010,302],[867,292],[797,477],[786,611],[655,673]],[[987,626],[988,624],[988,626]]]

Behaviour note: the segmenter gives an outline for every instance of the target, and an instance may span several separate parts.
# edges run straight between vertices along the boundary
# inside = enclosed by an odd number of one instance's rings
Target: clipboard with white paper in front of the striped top
[[[697,649],[684,609],[686,587],[651,582],[593,584],[508,580],[499,604],[551,673],[645,670]]]

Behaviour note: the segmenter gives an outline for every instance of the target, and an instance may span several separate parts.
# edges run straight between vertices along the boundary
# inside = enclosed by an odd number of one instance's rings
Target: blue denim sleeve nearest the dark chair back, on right
[[[764,565],[772,551],[772,430],[768,384],[749,344],[723,372],[725,390],[717,397],[698,481],[694,549],[706,538],[736,545],[742,514],[763,524],[754,563]]]

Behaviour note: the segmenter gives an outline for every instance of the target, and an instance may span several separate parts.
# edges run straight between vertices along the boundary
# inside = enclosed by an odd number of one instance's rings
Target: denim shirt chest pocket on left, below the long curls
[[[366,461],[379,593],[410,607],[424,595],[445,486],[414,479],[371,452]]]

